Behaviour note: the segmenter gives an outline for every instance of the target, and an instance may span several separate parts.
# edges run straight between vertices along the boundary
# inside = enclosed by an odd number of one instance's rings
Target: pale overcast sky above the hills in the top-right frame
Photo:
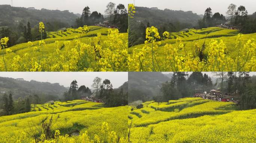
[[[129,0],[133,3],[133,0]],[[243,5],[249,14],[256,12],[256,0],[135,0],[135,6],[158,7],[158,9],[172,9],[193,11],[197,14],[204,14],[207,7],[211,7],[212,12],[226,15],[229,4],[234,3],[238,7]]]

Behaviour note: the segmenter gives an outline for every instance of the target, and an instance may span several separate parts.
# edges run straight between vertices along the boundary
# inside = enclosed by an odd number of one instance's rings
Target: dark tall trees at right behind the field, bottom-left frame
[[[78,88],[77,81],[73,80],[69,90],[64,93],[64,99],[62,101],[71,101],[94,96],[95,98],[102,99],[106,107],[128,105],[127,84],[128,83],[124,83],[120,88],[113,89],[113,85],[109,79],[102,81],[100,77],[95,77],[92,84],[94,92],[91,92],[91,89],[84,85]]]

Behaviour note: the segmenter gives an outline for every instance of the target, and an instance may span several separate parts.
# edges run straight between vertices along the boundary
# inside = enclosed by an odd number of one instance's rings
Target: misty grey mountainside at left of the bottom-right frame
[[[162,83],[171,79],[161,72],[129,72],[128,101],[149,101],[160,94]]]

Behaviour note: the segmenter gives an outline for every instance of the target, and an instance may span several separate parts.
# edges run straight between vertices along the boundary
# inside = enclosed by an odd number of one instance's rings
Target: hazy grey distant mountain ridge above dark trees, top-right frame
[[[157,8],[135,7],[135,19],[139,21],[149,20],[150,25],[158,25],[162,22],[190,23],[196,25],[201,15],[197,15],[192,11],[184,12],[182,10],[160,10]]]

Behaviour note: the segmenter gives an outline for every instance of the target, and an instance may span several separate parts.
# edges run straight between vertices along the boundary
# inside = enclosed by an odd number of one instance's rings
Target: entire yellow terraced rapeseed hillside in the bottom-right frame
[[[132,143],[256,142],[255,109],[237,111],[232,102],[202,98],[143,105],[130,107]]]

